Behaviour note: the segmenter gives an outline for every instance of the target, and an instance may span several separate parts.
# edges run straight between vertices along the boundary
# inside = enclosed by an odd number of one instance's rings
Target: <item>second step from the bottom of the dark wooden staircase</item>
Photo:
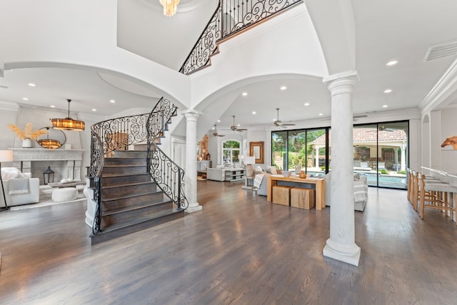
[[[130,223],[136,219],[151,219],[156,216],[156,213],[168,209],[173,209],[173,202],[170,199],[145,206],[126,206],[123,210],[103,213],[101,216],[101,229],[109,229],[111,226]]]

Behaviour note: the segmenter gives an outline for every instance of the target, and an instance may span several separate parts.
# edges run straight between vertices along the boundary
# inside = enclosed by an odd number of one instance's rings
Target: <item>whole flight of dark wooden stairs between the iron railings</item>
[[[176,209],[151,179],[146,154],[140,144],[132,151],[116,150],[105,158],[101,174],[103,214],[100,232],[91,235],[93,245],[184,216],[184,210]]]

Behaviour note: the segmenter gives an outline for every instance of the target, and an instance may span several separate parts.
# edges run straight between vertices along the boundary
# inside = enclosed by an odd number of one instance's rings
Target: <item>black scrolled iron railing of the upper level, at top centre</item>
[[[209,63],[217,44],[234,34],[265,21],[303,0],[219,0],[219,4],[179,71],[191,74]]]

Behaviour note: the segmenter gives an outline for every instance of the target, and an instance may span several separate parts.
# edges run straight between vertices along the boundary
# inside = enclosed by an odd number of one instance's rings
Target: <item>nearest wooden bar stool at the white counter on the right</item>
[[[425,208],[439,209],[448,214],[453,220],[453,214],[456,209],[453,206],[454,194],[457,194],[457,188],[444,182],[430,182],[426,180],[426,176],[421,174],[419,177],[420,200],[421,206],[419,216],[423,219]],[[451,201],[448,201],[448,194],[451,194]],[[426,204],[430,202],[430,204]]]

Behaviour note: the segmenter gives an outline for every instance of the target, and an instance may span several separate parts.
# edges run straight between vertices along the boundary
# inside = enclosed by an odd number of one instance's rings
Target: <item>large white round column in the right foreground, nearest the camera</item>
[[[352,91],[356,71],[323,79],[331,93],[331,208],[330,238],[323,256],[358,266],[353,194]]]

